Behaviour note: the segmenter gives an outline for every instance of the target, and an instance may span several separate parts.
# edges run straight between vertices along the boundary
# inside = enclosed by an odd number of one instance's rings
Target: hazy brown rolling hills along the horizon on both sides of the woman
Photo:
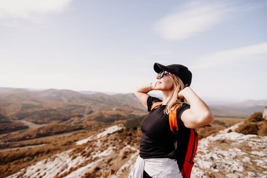
[[[267,105],[267,100],[213,101],[207,104],[215,116],[245,118],[253,112],[262,111]],[[146,113],[145,108],[132,93],[107,95],[90,91],[32,91],[25,88],[0,87],[0,122],[9,125],[19,120],[35,124],[81,124],[89,121],[112,123]],[[18,129],[25,127],[20,126]]]

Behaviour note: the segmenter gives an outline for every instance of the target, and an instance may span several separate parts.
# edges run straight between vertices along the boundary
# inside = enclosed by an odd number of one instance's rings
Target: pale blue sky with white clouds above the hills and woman
[[[1,0],[0,87],[132,93],[158,62],[200,97],[266,100],[266,19],[267,1]]]

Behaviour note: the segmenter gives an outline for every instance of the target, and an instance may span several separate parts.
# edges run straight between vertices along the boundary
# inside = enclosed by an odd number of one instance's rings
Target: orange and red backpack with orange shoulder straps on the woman
[[[156,102],[152,105],[151,110],[154,109],[156,106],[160,105],[162,102]],[[174,146],[175,150],[171,152],[168,155],[174,156],[179,154],[186,154],[184,162],[177,161],[177,164],[181,170],[183,178],[190,178],[192,168],[194,166],[194,158],[197,151],[197,145],[198,145],[198,134],[195,129],[190,129],[190,136],[189,139],[183,142],[182,145],[187,145],[186,152],[181,153],[179,150],[177,150],[177,138],[178,138],[178,124],[177,124],[177,118],[176,118],[176,111],[179,105],[175,106],[174,109],[169,113],[169,124],[170,124],[170,130],[174,134]],[[175,152],[175,154],[174,154]]]

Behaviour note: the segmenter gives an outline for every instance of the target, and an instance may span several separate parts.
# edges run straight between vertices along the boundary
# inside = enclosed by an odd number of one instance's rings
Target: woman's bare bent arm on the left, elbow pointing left
[[[155,85],[151,83],[150,85],[145,85],[137,88],[134,92],[138,100],[146,107],[147,109],[147,98],[149,98],[150,91],[155,90]]]

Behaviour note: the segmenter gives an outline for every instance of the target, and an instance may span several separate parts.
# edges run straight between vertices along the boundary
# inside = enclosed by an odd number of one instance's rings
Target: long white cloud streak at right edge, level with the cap
[[[267,43],[219,51],[201,57],[192,68],[210,68],[226,64],[235,64],[241,61],[257,60],[266,57]]]

